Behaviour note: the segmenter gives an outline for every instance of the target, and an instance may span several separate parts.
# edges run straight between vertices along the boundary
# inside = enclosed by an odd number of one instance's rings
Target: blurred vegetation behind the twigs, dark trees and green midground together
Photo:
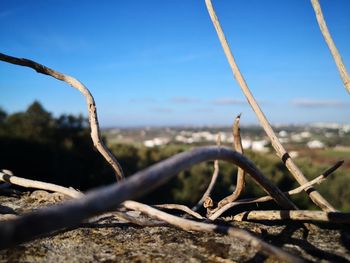
[[[171,144],[146,148],[137,144],[113,144],[110,146],[127,176],[160,160],[188,150],[190,146]],[[321,154],[322,153],[322,154]],[[333,158],[341,158],[338,152],[322,151],[326,162],[315,162],[314,156],[297,159],[300,169],[312,179],[333,164]],[[248,151],[250,158],[273,182],[287,191],[298,184],[274,154],[258,154]],[[344,155],[343,155],[344,156]],[[15,175],[72,186],[81,190],[113,183],[114,175],[104,159],[93,149],[88,123],[82,116],[61,115],[57,118],[34,102],[25,112],[8,115],[0,109],[0,169],[9,169]],[[327,183],[317,186],[336,208],[350,211],[350,168],[332,175]],[[194,205],[205,191],[213,173],[213,162],[196,165],[179,174],[166,185],[143,198],[148,203],[182,203]],[[219,201],[234,189],[237,168],[220,162],[220,173],[213,192]],[[244,197],[261,196],[264,192],[252,179],[247,178]],[[315,208],[305,194],[293,197],[301,207]],[[273,204],[259,205],[271,207]],[[239,208],[238,208],[239,209]]]

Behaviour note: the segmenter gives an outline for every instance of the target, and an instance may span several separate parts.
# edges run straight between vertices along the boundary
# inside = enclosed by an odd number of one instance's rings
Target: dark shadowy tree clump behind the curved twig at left
[[[38,102],[25,112],[1,112],[0,169],[83,190],[113,182],[82,116],[54,118]]]

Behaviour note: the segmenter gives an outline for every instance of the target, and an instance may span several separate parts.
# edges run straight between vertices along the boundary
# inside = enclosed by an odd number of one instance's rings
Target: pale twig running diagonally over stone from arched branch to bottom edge
[[[200,231],[200,232],[209,232],[209,233],[219,232],[219,233],[227,234],[231,237],[235,237],[244,242],[247,242],[252,247],[256,248],[258,251],[261,251],[265,255],[274,256],[283,262],[302,262],[301,259],[281,250],[280,248],[274,247],[262,241],[261,239],[253,236],[249,232],[244,231],[242,229],[195,222],[192,220],[188,220],[188,219],[184,219],[181,217],[164,213],[155,208],[152,208],[150,206],[140,204],[134,201],[125,201],[122,205],[128,209],[140,211],[146,215],[163,220],[170,225],[176,226],[186,231]]]

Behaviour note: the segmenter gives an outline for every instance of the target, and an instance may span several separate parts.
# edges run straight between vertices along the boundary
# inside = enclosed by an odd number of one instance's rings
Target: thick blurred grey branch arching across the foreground
[[[82,198],[61,205],[38,209],[15,220],[1,222],[0,249],[55,230],[77,226],[86,218],[111,211],[125,200],[150,192],[194,164],[210,160],[225,160],[240,166],[284,209],[294,209],[295,205],[288,197],[245,156],[227,147],[198,147],[159,162],[119,184],[88,192]]]

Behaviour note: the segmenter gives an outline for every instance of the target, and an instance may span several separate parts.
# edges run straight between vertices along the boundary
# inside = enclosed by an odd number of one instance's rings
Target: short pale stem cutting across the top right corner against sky
[[[332,36],[329,33],[326,21],[324,20],[324,17],[322,14],[322,9],[321,9],[320,3],[318,2],[318,0],[311,0],[311,3],[312,3],[312,6],[314,8],[314,11],[316,14],[316,19],[318,22],[318,26],[320,27],[320,30],[321,30],[322,35],[324,37],[324,40],[326,41],[328,48],[331,51],[331,54],[332,54],[333,59],[335,61],[335,64],[337,65],[338,71],[339,71],[340,76],[343,80],[344,86],[347,89],[347,91],[350,93],[349,74],[348,74],[346,67],[343,63],[343,60],[339,54],[339,51],[333,42]]]

